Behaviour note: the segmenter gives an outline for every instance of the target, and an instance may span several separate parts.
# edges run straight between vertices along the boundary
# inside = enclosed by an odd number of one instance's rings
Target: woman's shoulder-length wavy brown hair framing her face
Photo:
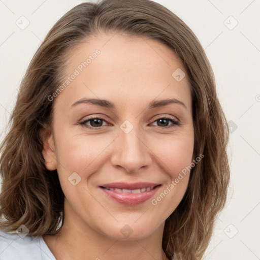
[[[47,97],[61,83],[73,47],[97,32],[147,37],[169,46],[180,57],[192,94],[194,154],[204,158],[190,173],[185,195],[165,223],[163,249],[169,258],[201,259],[223,209],[230,180],[227,122],[216,94],[208,58],[191,29],[167,8],[149,0],[83,3],[51,28],[23,78],[0,151],[3,179],[0,229],[24,224],[30,236],[53,235],[63,224],[64,194],[57,172],[45,167],[40,136],[51,124]]]

